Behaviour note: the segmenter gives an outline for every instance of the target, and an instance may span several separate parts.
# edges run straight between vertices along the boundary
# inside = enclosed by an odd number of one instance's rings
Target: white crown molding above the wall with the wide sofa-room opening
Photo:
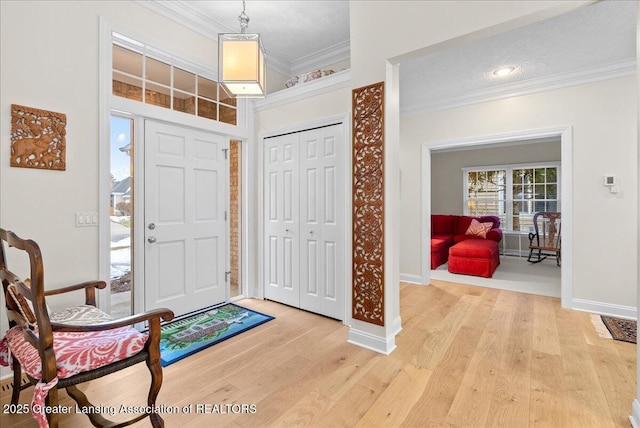
[[[576,72],[556,74],[549,77],[500,85],[490,89],[470,91],[463,95],[426,102],[408,108],[401,108],[400,115],[411,116],[436,110],[446,110],[471,104],[497,101],[504,98],[518,97],[522,95],[535,94],[537,92],[551,91],[554,89],[562,89],[570,86],[584,85],[602,80],[631,76],[635,74],[635,72],[635,59],[628,59],[602,66],[582,69]]]

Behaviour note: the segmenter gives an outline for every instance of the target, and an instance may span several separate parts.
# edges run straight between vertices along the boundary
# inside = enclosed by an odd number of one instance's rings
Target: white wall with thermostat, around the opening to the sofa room
[[[573,298],[634,307],[638,174],[635,77],[401,118],[401,272],[420,275],[420,146],[573,127]],[[616,174],[618,194],[602,185]]]

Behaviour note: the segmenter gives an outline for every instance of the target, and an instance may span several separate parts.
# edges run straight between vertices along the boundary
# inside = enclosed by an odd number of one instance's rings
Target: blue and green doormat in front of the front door
[[[227,303],[162,326],[160,364],[166,367],[218,342],[274,319]]]

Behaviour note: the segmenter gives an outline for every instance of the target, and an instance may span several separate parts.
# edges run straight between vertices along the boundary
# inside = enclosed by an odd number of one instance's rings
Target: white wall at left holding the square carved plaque
[[[217,64],[216,41],[136,2],[0,2],[0,227],[40,244],[47,288],[98,277],[98,228],[75,227],[75,212],[98,211],[99,17]],[[11,104],[67,115],[66,171],[9,167]]]

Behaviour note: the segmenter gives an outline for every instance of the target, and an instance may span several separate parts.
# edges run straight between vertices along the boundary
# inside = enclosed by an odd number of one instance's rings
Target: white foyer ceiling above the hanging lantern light
[[[214,39],[218,33],[240,32],[241,0],[140,3]],[[260,33],[269,68],[294,76],[349,60],[348,1],[249,0],[245,4],[247,32]]]

